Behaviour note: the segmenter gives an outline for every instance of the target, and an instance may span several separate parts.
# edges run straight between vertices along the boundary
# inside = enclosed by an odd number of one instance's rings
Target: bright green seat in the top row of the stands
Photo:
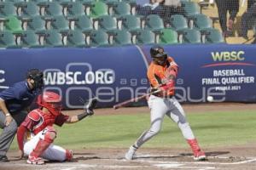
[[[99,16],[108,15],[108,6],[106,3],[94,2],[91,4],[90,17],[98,18]]]

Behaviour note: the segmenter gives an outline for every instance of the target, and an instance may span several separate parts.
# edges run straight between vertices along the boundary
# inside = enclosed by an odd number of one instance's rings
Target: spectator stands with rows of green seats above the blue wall
[[[255,43],[255,0],[0,0],[0,48]]]

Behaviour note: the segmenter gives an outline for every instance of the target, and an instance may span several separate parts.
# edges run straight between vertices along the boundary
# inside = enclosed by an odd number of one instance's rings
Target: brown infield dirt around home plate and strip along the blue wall
[[[206,104],[183,105],[184,110],[190,112],[208,111],[245,111],[255,110],[256,104]],[[77,114],[79,111],[68,111]],[[147,107],[113,109],[97,109],[96,114],[137,114],[148,112]],[[229,147],[206,148],[207,161],[193,161],[189,148],[187,149],[145,149],[137,151],[137,158],[133,161],[124,159],[125,149],[82,149],[74,150],[74,160],[71,162],[47,162],[43,166],[26,164],[26,160],[18,160],[16,152],[8,154],[10,162],[0,163],[0,170],[78,170],[78,169],[256,169],[256,144],[232,145]]]

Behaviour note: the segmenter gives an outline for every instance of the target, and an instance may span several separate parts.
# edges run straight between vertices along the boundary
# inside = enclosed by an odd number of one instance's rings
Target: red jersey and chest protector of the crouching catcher
[[[25,121],[21,123],[21,126],[26,127],[34,134],[38,134],[47,126],[52,126],[53,124],[62,126],[62,124],[67,121],[68,117],[69,116],[63,114],[55,116],[49,112],[44,113],[42,110],[36,109],[28,113]]]

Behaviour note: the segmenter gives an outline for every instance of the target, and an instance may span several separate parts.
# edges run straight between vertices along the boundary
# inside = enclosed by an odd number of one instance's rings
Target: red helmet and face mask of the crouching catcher
[[[37,104],[47,108],[55,116],[61,113],[61,96],[54,92],[45,91],[43,94],[38,95]]]

